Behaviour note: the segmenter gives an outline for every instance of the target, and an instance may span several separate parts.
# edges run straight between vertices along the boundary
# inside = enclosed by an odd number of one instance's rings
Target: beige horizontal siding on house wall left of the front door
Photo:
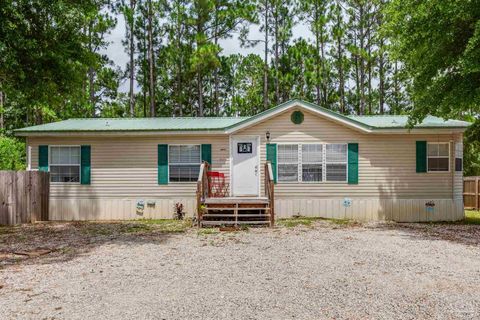
[[[93,198],[194,198],[195,182],[158,185],[158,144],[211,144],[212,169],[229,173],[228,136],[170,137],[35,137],[32,169],[38,168],[39,145],[91,145],[91,185],[52,183],[51,197]]]

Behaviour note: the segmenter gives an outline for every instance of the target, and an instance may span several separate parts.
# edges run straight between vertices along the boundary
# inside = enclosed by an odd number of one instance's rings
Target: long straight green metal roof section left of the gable
[[[245,119],[248,117],[69,119],[26,127],[16,132],[223,130]]]

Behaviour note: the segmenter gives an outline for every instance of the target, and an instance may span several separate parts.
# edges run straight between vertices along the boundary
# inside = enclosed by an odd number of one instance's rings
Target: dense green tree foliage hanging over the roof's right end
[[[393,0],[392,53],[412,81],[412,116],[480,111],[480,1]]]

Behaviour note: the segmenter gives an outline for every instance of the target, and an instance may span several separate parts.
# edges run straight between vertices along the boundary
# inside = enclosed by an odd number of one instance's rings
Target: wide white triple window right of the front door
[[[278,144],[278,181],[346,182],[347,144]]]

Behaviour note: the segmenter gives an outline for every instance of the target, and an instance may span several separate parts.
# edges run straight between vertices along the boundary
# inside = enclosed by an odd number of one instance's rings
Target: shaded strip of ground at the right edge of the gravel
[[[398,230],[416,240],[445,240],[464,245],[480,246],[480,225],[449,222],[382,223],[373,229]]]

